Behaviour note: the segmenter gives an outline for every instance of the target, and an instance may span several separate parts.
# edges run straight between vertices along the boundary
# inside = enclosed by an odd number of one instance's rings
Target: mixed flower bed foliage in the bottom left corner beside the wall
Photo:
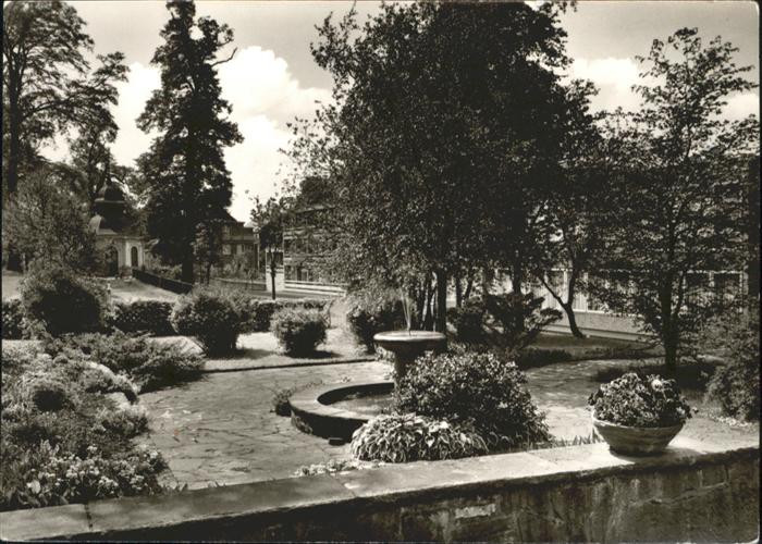
[[[160,491],[161,456],[130,441],[145,412],[86,388],[90,367],[3,349],[2,370],[1,510]]]

